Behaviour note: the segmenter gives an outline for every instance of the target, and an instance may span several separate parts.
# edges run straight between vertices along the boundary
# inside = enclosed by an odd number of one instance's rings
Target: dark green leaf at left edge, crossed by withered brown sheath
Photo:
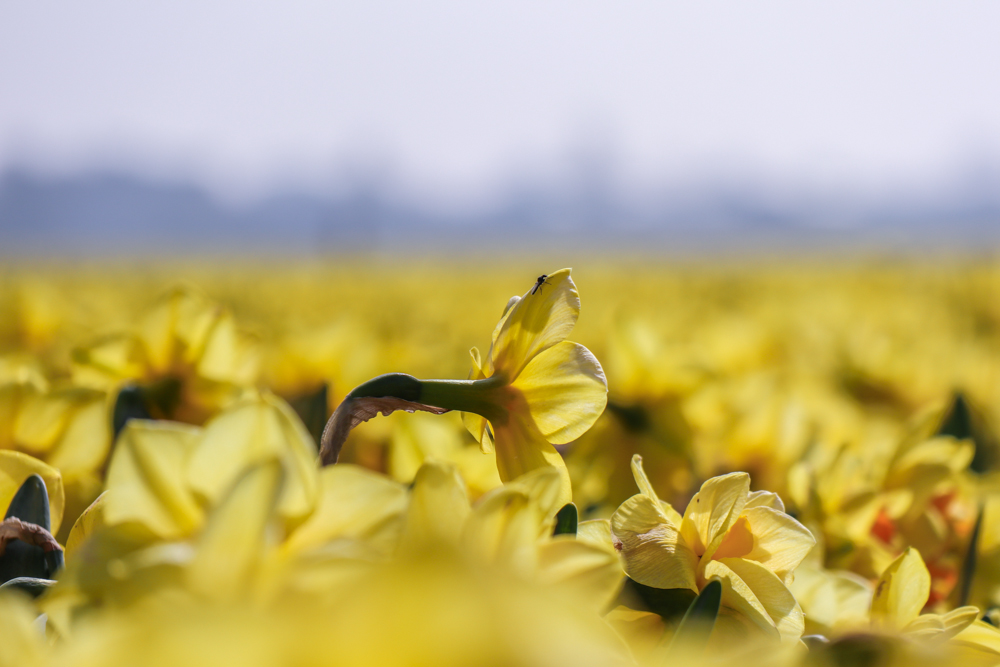
[[[14,494],[7,508],[5,519],[16,518],[51,530],[49,496],[45,482],[38,475],[30,475]],[[33,544],[13,540],[0,556],[0,582],[19,577],[52,579],[64,564],[63,552],[45,551]]]

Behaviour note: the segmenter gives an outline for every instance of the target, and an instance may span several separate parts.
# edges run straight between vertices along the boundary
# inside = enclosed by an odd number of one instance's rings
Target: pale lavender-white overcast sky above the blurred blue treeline
[[[3,0],[0,169],[891,184],[1000,155],[998,31],[995,1]]]

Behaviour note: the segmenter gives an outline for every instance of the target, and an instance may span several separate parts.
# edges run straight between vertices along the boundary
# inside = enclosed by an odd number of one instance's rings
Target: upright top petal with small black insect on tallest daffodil
[[[580,295],[569,269],[548,276],[535,293],[528,290],[504,316],[490,348],[491,375],[513,381],[537,354],[566,340],[580,316]]]

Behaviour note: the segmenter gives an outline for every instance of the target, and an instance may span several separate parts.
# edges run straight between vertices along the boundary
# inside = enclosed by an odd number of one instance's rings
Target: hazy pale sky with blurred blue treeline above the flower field
[[[0,254],[1000,238],[1000,6],[0,6]]]

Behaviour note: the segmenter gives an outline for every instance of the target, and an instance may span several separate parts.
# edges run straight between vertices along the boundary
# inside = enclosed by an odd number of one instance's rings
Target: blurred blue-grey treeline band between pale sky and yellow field
[[[885,196],[815,195],[731,183],[665,187],[641,201],[610,188],[538,187],[435,211],[377,187],[223,203],[195,185],[128,173],[0,174],[0,255],[80,256],[576,247],[703,251],[798,245],[1000,247],[1000,182]]]

